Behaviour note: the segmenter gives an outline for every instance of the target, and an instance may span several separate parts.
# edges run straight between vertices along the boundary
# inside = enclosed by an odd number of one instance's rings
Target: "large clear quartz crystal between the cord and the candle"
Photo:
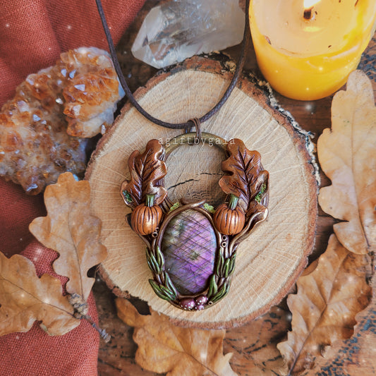
[[[132,53],[155,68],[164,68],[240,43],[244,23],[238,0],[168,1],[147,14]]]

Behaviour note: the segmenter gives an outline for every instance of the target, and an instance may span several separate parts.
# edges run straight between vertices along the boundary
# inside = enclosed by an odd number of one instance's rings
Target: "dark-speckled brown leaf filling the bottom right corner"
[[[356,315],[354,334],[345,341],[336,341],[304,376],[376,375],[376,278],[372,282],[373,297],[368,308]],[[361,370],[361,371],[360,371]]]

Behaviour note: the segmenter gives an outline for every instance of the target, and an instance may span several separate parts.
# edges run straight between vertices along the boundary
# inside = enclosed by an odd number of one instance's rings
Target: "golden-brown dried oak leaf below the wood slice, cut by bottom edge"
[[[145,370],[167,376],[236,376],[229,364],[231,353],[223,355],[224,329],[176,327],[153,310],[140,315],[126,299],[117,298],[116,307],[121,320],[135,327],[135,360]]]

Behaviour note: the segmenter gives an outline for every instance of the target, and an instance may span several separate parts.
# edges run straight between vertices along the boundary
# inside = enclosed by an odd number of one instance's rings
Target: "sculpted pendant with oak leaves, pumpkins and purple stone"
[[[227,196],[217,208],[205,200],[171,202],[164,188],[169,154],[198,142],[220,147],[227,157],[219,180]],[[238,245],[268,214],[269,173],[260,159],[243,141],[200,133],[197,124],[196,133],[178,135],[166,146],[150,140],[145,152],[131,154],[131,180],[121,184],[121,197],[132,210],[128,223],[147,245],[149,281],[159,298],[183,310],[203,310],[229,292]]]

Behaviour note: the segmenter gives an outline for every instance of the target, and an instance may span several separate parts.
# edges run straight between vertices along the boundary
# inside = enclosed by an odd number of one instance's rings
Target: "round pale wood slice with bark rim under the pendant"
[[[231,63],[195,57],[152,78],[135,92],[153,116],[170,122],[200,117],[211,109],[229,85]],[[225,140],[240,138],[258,150],[269,171],[269,217],[238,248],[236,270],[228,296],[203,311],[186,312],[158,298],[148,282],[152,277],[145,244],[125,221],[130,210],[120,195],[129,178],[127,161],[148,140],[168,142],[182,131],[156,126],[126,105],[102,138],[87,169],[92,188],[92,212],[102,219],[102,242],[109,256],[100,273],[118,296],[141,298],[179,325],[222,328],[241,325],[275,305],[288,293],[313,250],[317,218],[317,181],[308,136],[292,119],[272,108],[267,90],[243,78],[224,107],[202,130]],[[275,104],[274,104],[275,107]],[[224,199],[218,186],[223,153],[217,147],[183,145],[167,160],[164,180],[169,198],[201,200],[211,205]]]

